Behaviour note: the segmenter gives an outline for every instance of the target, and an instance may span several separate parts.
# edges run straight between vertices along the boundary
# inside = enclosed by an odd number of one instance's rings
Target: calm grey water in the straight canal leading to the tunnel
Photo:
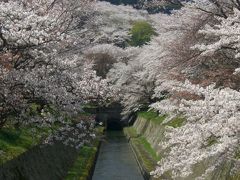
[[[122,131],[107,131],[99,151],[93,180],[143,180]]]

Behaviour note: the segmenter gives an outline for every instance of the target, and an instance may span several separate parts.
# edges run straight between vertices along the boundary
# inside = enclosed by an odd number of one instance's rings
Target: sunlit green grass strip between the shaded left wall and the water
[[[87,180],[94,164],[97,147],[83,146],[73,167],[68,171],[66,180]]]

